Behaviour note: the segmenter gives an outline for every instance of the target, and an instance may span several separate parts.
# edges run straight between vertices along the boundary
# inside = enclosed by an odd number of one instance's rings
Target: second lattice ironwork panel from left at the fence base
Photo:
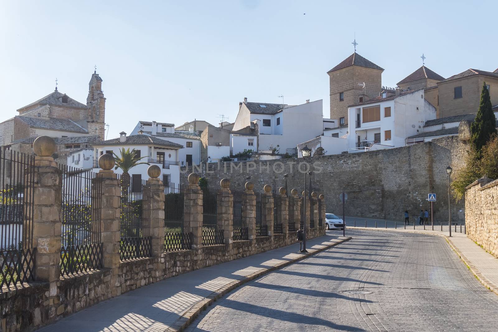
[[[61,275],[102,268],[102,243],[61,247]]]

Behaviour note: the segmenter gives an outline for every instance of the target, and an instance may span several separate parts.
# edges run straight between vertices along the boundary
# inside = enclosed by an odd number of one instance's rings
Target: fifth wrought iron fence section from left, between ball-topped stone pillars
[[[224,244],[222,222],[222,193],[214,188],[203,188],[202,245]]]

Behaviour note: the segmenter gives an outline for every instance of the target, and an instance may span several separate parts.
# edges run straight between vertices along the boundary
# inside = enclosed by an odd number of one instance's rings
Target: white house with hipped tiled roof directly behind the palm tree
[[[94,146],[94,171],[99,171],[98,159],[104,153],[116,153],[121,155],[120,150],[135,149],[136,153],[143,158],[142,161],[148,162],[150,165],[157,165],[161,168],[161,179],[165,186],[170,183],[180,183],[180,163],[179,151],[183,145],[160,139],[158,137],[149,136],[145,134],[126,136],[125,132],[120,133],[119,138],[108,139],[93,144]],[[131,181],[140,183],[141,180],[147,180],[147,168],[149,165],[137,165],[133,167],[128,173],[130,174]],[[118,168],[116,173],[122,174],[123,170]]]

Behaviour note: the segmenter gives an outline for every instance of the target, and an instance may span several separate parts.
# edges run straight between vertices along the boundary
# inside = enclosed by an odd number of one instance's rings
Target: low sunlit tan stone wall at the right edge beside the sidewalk
[[[482,178],[467,187],[467,236],[498,258],[498,180]]]

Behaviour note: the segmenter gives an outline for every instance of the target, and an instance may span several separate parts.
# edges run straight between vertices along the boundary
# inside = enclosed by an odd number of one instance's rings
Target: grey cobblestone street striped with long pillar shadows
[[[187,331],[498,331],[498,296],[444,238],[347,235],[353,239],[228,294]],[[342,293],[351,290],[371,293]]]

